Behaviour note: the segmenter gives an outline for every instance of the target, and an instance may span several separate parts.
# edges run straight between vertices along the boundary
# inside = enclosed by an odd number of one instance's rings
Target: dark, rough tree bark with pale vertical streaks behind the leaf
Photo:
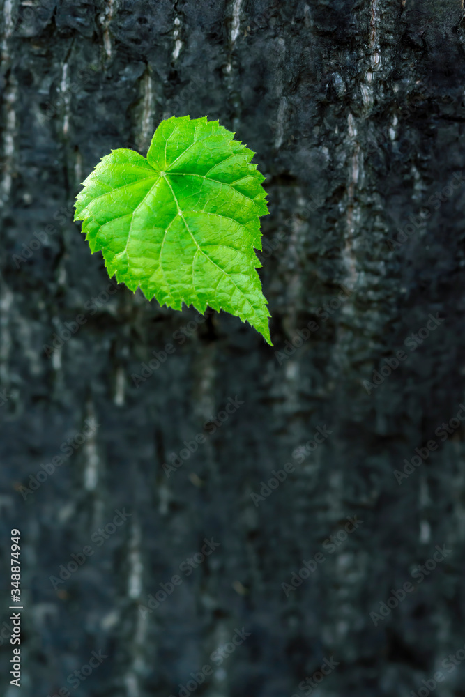
[[[443,664],[465,644],[463,16],[461,0],[3,0],[7,697],[12,528],[22,697],[177,696],[203,666],[199,695],[300,696],[324,659],[321,697],[407,697],[438,671],[439,697],[465,695],[465,663]],[[274,348],[110,284],[73,223],[99,158],[145,154],[173,114],[257,152]]]

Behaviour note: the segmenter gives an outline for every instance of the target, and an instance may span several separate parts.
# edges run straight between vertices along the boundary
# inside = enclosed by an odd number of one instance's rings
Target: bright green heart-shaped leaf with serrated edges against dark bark
[[[254,252],[268,214],[254,154],[218,121],[173,116],[147,158],[124,149],[102,158],[77,196],[75,220],[109,275],[132,291],[174,309],[224,309],[273,345]]]

